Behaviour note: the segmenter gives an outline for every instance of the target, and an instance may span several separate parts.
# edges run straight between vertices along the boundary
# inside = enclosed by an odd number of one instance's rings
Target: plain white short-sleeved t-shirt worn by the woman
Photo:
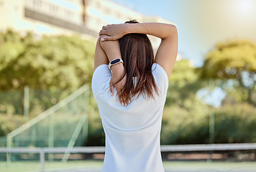
[[[92,90],[99,106],[106,134],[106,153],[102,172],[162,172],[160,129],[168,90],[168,75],[160,65],[152,65],[152,75],[159,96],[142,95],[125,107],[118,95],[111,96],[108,65],[100,65],[93,73]]]

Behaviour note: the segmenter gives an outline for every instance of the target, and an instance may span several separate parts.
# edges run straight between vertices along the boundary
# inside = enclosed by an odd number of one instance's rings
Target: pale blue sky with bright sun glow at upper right
[[[218,42],[256,43],[256,0],[111,0],[134,11],[161,16],[178,29],[178,52],[200,67]]]

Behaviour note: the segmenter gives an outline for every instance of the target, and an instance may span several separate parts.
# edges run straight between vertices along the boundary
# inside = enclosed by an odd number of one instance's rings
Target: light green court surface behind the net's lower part
[[[9,168],[2,166],[1,172],[40,172],[40,164],[32,163],[12,163]],[[23,165],[23,166],[22,166]],[[96,161],[91,163],[72,162],[45,163],[45,172],[100,172],[102,162]],[[256,162],[180,162],[180,161],[164,161],[165,172],[256,172]]]

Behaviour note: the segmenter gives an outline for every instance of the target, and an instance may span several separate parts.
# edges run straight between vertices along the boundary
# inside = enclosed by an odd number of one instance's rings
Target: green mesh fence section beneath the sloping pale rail
[[[7,147],[73,147],[88,135],[86,85],[6,136]]]

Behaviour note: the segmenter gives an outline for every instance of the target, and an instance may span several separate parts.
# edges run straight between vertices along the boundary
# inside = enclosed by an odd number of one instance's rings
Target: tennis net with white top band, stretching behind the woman
[[[101,171],[104,152],[104,147],[0,148],[0,169]],[[165,172],[256,171],[256,143],[162,145],[161,153]]]

